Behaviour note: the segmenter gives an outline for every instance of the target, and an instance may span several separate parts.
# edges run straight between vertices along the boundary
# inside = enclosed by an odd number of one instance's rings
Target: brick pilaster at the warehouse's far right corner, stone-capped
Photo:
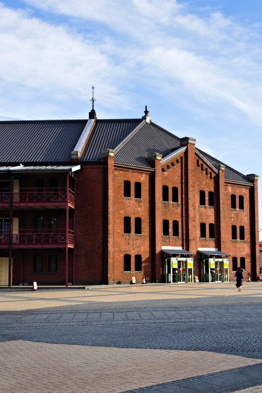
[[[250,189],[250,234],[252,281],[257,281],[259,277],[258,175],[248,174],[247,176],[254,184],[254,186]]]

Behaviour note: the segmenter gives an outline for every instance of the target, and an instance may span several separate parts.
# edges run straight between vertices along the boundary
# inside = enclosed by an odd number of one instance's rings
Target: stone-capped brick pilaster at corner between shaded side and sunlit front
[[[107,162],[105,171],[105,283],[114,283],[114,155],[112,149],[101,151],[101,160]],[[106,280],[106,275],[108,279]],[[107,281],[107,282],[106,282]]]

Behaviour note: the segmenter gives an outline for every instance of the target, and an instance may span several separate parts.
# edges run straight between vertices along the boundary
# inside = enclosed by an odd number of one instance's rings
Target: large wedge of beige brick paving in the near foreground
[[[260,363],[261,360],[204,351],[126,349],[2,342],[2,391],[116,393],[181,378]],[[182,371],[182,372],[181,372]],[[28,381],[33,381],[31,385]],[[43,390],[44,389],[44,390]],[[53,391],[54,391],[53,389]]]

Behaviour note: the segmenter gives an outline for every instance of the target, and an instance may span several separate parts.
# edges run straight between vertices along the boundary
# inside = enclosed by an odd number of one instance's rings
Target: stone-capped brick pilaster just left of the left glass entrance
[[[162,281],[162,233],[163,224],[161,216],[162,182],[161,182],[162,154],[149,153],[148,163],[155,169],[151,177],[151,213],[152,213],[152,282]]]

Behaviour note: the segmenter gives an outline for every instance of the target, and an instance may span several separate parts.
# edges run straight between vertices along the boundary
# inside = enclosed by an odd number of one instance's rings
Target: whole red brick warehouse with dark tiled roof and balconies
[[[256,174],[140,119],[1,121],[0,285],[259,276]]]

